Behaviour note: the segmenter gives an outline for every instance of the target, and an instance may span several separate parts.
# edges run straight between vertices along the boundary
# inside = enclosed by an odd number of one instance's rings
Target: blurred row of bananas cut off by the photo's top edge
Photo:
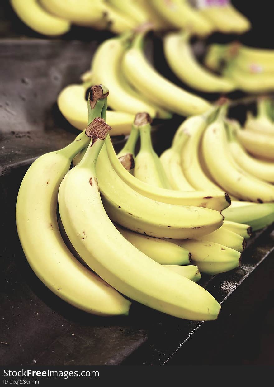
[[[249,21],[229,2],[201,9],[187,0],[10,0],[20,19],[34,31],[58,36],[71,24],[109,29],[115,34],[138,28],[188,29],[206,36],[214,31],[243,33]],[[212,3],[212,2],[211,2]]]

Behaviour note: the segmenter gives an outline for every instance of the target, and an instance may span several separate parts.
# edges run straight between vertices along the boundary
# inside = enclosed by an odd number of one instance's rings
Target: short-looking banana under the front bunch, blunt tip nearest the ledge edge
[[[240,264],[241,253],[219,243],[190,240],[175,240],[177,245],[189,249],[191,263],[205,274],[219,274],[235,269]]]

